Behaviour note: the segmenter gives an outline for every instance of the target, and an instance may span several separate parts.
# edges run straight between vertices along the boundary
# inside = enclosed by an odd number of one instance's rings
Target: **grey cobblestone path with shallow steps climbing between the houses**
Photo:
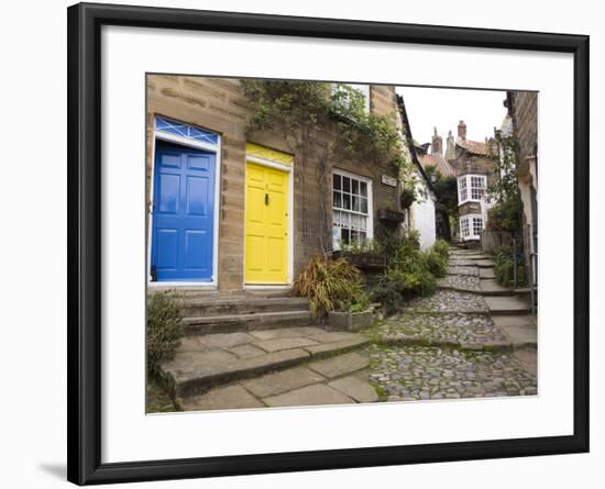
[[[372,337],[370,381],[380,399],[537,394],[535,366],[524,362],[529,357],[535,364],[534,321],[517,310],[516,315],[492,314],[484,294],[508,291],[482,288],[480,269],[493,267],[485,256],[452,249],[450,258],[433,296],[411,301],[403,313],[365,331]],[[524,341],[512,327],[521,329]]]

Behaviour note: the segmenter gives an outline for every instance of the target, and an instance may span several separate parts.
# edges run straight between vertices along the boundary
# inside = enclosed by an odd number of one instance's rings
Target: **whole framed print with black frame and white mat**
[[[68,479],[588,449],[588,38],[68,9]]]

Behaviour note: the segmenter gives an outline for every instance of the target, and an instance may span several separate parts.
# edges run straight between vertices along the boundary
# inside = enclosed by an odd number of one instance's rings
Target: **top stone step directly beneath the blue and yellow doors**
[[[308,311],[309,301],[299,297],[264,298],[187,298],[183,300],[185,318],[251,314],[257,312]]]

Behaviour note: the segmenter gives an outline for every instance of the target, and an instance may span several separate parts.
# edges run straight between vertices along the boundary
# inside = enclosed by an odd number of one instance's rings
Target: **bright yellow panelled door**
[[[245,171],[246,284],[288,281],[288,174],[255,163]]]

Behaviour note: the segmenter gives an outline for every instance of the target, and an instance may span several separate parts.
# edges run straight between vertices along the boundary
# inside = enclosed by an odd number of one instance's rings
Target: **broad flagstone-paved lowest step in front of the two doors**
[[[199,335],[185,338],[175,358],[161,369],[174,397],[183,398],[367,344],[365,336],[318,327]]]

